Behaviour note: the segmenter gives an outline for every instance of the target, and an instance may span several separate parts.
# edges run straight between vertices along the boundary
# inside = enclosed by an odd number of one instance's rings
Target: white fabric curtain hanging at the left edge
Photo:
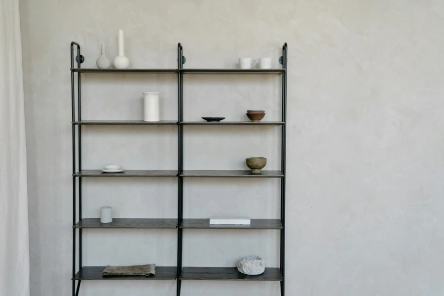
[[[19,0],[0,0],[0,296],[29,296]]]

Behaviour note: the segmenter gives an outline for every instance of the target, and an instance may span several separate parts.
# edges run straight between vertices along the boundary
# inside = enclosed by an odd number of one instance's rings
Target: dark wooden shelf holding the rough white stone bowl
[[[279,268],[265,268],[259,275],[240,273],[236,267],[184,267],[179,277],[181,280],[217,280],[217,281],[282,281]]]

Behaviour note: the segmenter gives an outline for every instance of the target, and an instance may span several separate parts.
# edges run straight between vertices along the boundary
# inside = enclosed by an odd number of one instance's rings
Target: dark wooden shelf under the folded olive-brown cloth
[[[83,266],[75,274],[72,280],[175,280],[177,277],[176,266],[156,266],[156,274],[143,275],[108,275],[103,276],[106,266]]]

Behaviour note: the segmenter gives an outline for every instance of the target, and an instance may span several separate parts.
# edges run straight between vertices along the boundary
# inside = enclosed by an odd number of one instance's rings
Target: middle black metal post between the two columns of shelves
[[[184,201],[184,178],[180,175],[184,170],[184,108],[183,108],[183,52],[181,43],[177,46],[177,70],[178,70],[178,229],[177,229],[177,296],[181,295],[182,281],[180,275],[182,272],[182,238],[183,229],[181,228],[183,220],[183,201]]]

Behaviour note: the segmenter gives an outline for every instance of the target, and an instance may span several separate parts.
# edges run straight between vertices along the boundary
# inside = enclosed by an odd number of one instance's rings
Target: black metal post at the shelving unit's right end
[[[281,171],[284,177],[281,179],[281,254],[280,254],[280,268],[281,268],[281,296],[285,295],[285,161],[286,161],[286,129],[287,129],[287,43],[282,47],[282,134],[281,134]]]

